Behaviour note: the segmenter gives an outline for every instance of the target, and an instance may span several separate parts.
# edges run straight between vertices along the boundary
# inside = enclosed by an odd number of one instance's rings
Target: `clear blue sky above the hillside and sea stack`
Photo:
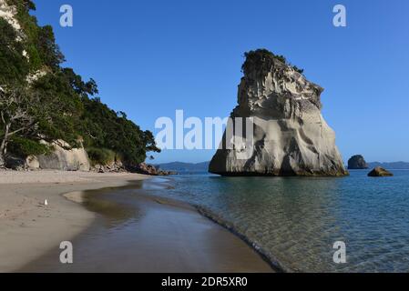
[[[243,52],[265,47],[325,88],[323,115],[343,159],[409,161],[409,1],[35,0],[66,66],[93,77],[103,102],[154,133],[159,116],[227,116]],[[74,27],[59,26],[59,7]],[[332,7],[347,27],[332,25]],[[209,160],[164,151],[156,162]]]

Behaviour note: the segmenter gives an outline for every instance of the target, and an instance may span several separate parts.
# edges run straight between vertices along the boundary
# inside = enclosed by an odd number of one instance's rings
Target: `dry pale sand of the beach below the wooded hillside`
[[[144,179],[137,174],[0,172],[0,272],[14,271],[78,235],[95,214],[62,194]],[[44,206],[47,199],[48,206]]]

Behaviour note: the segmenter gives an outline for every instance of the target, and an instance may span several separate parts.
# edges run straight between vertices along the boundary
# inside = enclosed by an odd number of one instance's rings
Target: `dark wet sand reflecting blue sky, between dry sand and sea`
[[[166,180],[87,191],[83,205],[97,219],[73,240],[74,264],[59,263],[57,246],[23,272],[271,272],[250,246],[191,206],[152,198]]]

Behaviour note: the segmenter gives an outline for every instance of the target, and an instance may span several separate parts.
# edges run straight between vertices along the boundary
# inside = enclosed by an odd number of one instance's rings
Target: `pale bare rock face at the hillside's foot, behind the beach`
[[[51,146],[54,147],[54,151],[50,155],[36,156],[39,168],[86,172],[90,170],[87,151],[83,147],[71,148],[62,140],[53,142]]]

